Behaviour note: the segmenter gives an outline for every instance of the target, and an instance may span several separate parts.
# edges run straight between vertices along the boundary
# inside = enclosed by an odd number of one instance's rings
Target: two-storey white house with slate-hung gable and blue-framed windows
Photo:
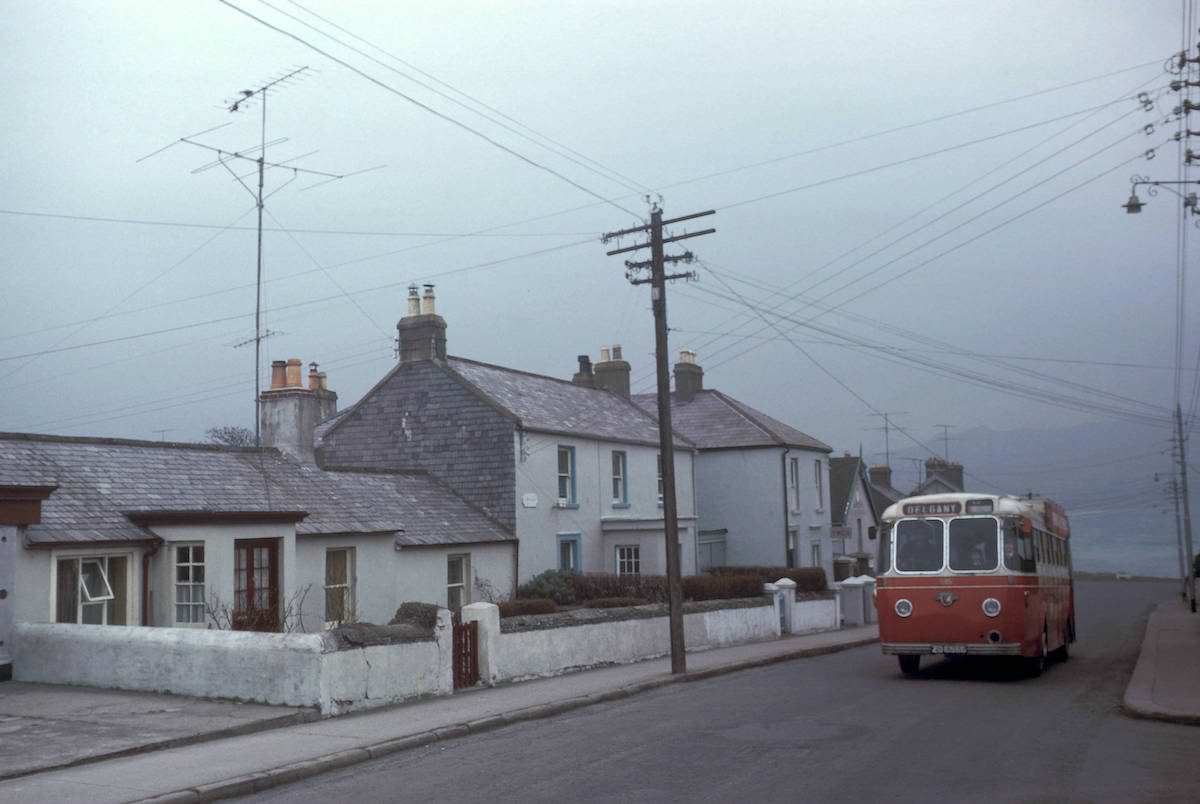
[[[619,349],[595,366],[581,358],[575,380],[484,364],[446,354],[432,286],[408,304],[400,362],[316,428],[318,463],[442,479],[517,539],[518,582],[547,569],[665,572],[658,425],[630,401]],[[696,571],[692,458],[677,438],[684,574]]]

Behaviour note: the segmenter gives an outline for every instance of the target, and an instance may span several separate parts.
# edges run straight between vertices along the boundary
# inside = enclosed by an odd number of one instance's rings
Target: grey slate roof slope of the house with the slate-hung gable
[[[508,410],[526,430],[658,445],[659,427],[631,401],[565,379],[450,358],[451,371]],[[676,444],[690,448],[676,433]]]

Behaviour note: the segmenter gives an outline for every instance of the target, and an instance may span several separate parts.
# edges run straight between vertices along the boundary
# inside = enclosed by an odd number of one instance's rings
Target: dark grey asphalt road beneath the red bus
[[[259,799],[1200,800],[1200,728],[1120,701],[1171,584],[1076,584],[1079,642],[1037,679],[877,647],[671,685],[354,766]]]

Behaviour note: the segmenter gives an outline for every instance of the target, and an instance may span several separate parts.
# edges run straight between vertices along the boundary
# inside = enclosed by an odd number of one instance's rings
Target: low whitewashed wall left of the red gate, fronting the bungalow
[[[431,637],[18,623],[17,680],[236,698],[323,714],[452,690],[450,613]]]

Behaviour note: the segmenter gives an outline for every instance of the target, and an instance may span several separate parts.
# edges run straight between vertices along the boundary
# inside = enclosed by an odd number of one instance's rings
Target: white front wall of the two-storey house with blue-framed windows
[[[557,508],[558,445],[575,448],[576,504]],[[558,569],[558,536],[580,534],[581,570],[612,572],[612,540],[605,538],[605,522],[646,523],[641,528],[658,539],[652,554],[666,554],[662,542],[662,506],[658,498],[658,448],[569,438],[544,433],[517,433],[514,444],[517,458],[516,511],[521,539],[520,581],[524,582],[548,569]],[[626,456],[628,505],[612,498],[612,452]],[[676,500],[682,541],[680,568],[685,575],[696,566],[696,503],[694,454],[676,451]],[[535,500],[535,502],[534,502]],[[532,505],[527,503],[533,503]],[[635,544],[635,542],[620,542]],[[643,550],[642,560],[647,560]],[[659,565],[665,568],[664,563]],[[642,570],[649,574],[649,569]],[[656,570],[661,572],[662,569]]]

